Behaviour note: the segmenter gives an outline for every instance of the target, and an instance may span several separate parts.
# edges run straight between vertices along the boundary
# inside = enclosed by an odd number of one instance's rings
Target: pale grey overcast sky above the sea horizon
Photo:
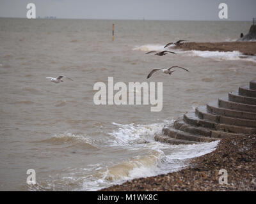
[[[35,3],[36,17],[223,20],[220,3],[228,5],[228,20],[256,17],[256,0],[0,0],[0,17],[26,18],[28,3]]]

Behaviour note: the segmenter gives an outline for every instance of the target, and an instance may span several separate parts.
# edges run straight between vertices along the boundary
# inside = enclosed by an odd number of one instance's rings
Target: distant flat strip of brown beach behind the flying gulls
[[[195,43],[186,42],[172,49],[201,50],[201,51],[234,51],[238,50],[244,55],[256,55],[256,41],[234,41],[218,43]]]

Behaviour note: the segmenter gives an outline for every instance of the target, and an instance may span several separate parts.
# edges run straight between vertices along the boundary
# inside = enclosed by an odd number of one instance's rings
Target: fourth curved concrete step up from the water
[[[195,112],[189,112],[184,114],[183,119],[186,123],[192,126],[200,126],[203,128],[211,128],[217,131],[224,131],[228,133],[243,133],[243,134],[253,134],[256,133],[256,128],[248,128],[243,126],[232,126],[229,124],[221,124],[218,122],[213,122],[207,119],[199,119]]]

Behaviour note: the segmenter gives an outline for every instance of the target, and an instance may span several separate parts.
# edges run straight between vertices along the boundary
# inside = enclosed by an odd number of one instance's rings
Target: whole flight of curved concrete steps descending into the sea
[[[155,140],[173,145],[212,142],[256,133],[256,80],[164,126]]]

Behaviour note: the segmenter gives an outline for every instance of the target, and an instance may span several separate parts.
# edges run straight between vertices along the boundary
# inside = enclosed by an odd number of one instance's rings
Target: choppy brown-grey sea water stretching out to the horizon
[[[112,24],[115,40],[112,41]],[[234,52],[175,50],[170,41],[234,41],[250,22],[27,20],[0,18],[0,190],[94,191],[177,171],[218,142],[168,145],[154,133],[195,106],[255,78],[255,59]],[[189,73],[156,75],[184,66]],[[61,84],[45,77],[67,75]],[[163,82],[163,110],[95,105],[96,82]],[[36,171],[36,185],[26,171]]]

